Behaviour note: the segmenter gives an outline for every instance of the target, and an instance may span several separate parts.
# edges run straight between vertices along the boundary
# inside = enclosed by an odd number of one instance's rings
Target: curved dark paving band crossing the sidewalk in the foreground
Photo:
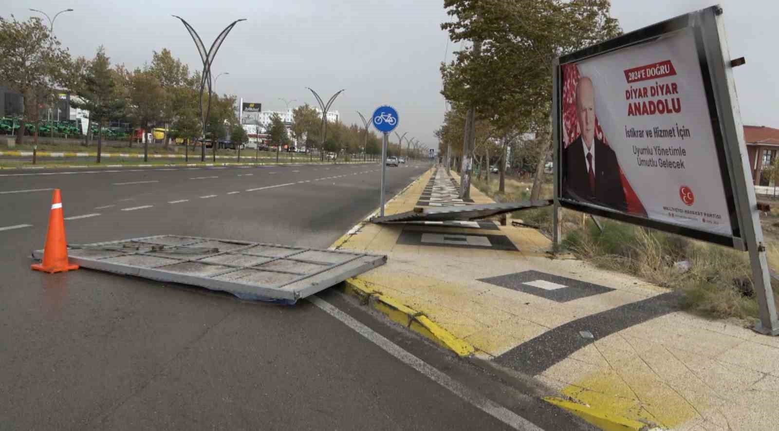
[[[581,337],[580,330],[590,331],[597,340],[678,310],[677,292],[668,292],[654,298],[632,302],[548,330],[500,355],[495,362],[520,373],[535,376],[594,341]]]

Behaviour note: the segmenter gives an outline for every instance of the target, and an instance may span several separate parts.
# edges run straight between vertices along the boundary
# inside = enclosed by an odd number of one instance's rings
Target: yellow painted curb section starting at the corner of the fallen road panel
[[[372,288],[368,283],[358,278],[350,278],[344,281],[344,291],[358,297],[361,302],[372,306],[385,314],[393,322],[400,323],[404,327],[413,330],[422,337],[428,338],[439,344],[442,348],[449,349],[461,357],[474,354],[474,346],[449,334],[449,331],[428,319],[424,313],[418,312],[381,291]]]

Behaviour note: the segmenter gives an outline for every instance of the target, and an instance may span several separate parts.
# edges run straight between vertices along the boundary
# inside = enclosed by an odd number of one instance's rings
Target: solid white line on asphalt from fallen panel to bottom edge
[[[349,316],[347,313],[344,313],[340,309],[332,306],[329,302],[326,302],[317,296],[309,296],[308,301],[319,307],[319,309],[322,309],[325,313],[330,314],[330,316],[340,320],[347,327],[355,330],[358,334],[367,338],[369,341],[372,341],[374,344],[382,348],[384,352],[393,355],[395,358],[399,359],[400,362],[404,362],[407,366],[411,366],[411,368],[416,369],[419,373],[428,377],[428,379],[438,383],[442,387],[445,387],[456,396],[480,409],[482,412],[491,415],[493,418],[498,419],[513,429],[541,431],[541,428],[535,426],[533,422],[524,419],[522,416],[510,411],[508,408],[505,408],[502,405],[498,405],[489,398],[469,389],[462,383],[453,380],[451,377],[449,377],[449,375],[442,373],[434,366],[431,366],[427,362],[405,351],[403,348],[400,348],[400,346],[386,339],[386,337],[382,336],[382,334],[379,334],[375,332],[375,330],[366,327],[364,324],[358,322],[358,320],[355,320],[354,317]]]

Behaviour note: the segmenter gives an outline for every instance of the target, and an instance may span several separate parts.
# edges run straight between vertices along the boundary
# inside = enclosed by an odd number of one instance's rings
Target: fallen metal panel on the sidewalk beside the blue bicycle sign
[[[373,223],[388,223],[393,221],[453,221],[478,220],[503,213],[519,210],[548,207],[552,200],[527,200],[525,202],[483,203],[463,207],[425,207],[421,211],[406,211],[384,217],[372,217]]]

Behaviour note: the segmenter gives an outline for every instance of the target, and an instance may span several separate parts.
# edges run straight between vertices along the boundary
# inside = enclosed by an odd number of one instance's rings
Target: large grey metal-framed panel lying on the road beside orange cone
[[[386,263],[381,255],[177,235],[70,244],[68,253],[84,268],[284,304]]]

